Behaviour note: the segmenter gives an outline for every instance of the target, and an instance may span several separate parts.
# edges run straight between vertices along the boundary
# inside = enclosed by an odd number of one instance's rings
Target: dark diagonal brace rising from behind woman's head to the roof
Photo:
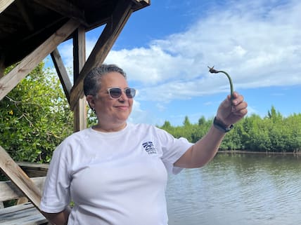
[[[107,25],[105,25],[105,29],[103,29],[103,32],[89,55],[86,64],[84,64],[84,68],[80,72],[77,81],[75,81],[75,84],[71,89],[70,107],[72,110],[75,108],[79,98],[84,96],[84,77],[93,67],[97,67],[103,63],[105,57],[108,55],[110,49],[115,43],[117,36],[119,36],[122,28],[129,19],[129,16],[132,15],[132,12],[132,0],[118,2],[111,20]]]

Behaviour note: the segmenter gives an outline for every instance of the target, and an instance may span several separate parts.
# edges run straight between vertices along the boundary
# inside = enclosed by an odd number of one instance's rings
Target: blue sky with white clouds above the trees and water
[[[182,125],[213,118],[230,93],[224,74],[248,102],[248,116],[271,107],[301,113],[301,1],[151,0],[132,13],[105,63],[136,88],[129,121]],[[87,58],[103,27],[87,32]],[[72,43],[58,47],[72,68]]]

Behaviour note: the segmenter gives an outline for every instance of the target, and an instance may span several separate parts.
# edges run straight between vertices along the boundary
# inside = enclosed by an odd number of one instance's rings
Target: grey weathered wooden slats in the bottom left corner
[[[1,225],[37,225],[45,223],[47,223],[47,219],[32,203],[14,205],[0,210]]]

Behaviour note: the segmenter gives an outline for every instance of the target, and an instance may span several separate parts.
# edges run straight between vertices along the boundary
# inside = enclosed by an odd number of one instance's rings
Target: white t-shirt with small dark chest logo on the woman
[[[167,172],[181,171],[173,164],[191,145],[146,124],[76,132],[53,153],[40,208],[72,200],[68,225],[167,225]]]

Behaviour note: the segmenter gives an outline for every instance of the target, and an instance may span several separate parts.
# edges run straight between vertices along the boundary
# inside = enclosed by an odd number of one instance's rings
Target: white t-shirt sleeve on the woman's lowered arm
[[[70,149],[70,145],[62,142],[53,152],[40,204],[44,212],[61,212],[70,203],[70,167],[66,156]]]

